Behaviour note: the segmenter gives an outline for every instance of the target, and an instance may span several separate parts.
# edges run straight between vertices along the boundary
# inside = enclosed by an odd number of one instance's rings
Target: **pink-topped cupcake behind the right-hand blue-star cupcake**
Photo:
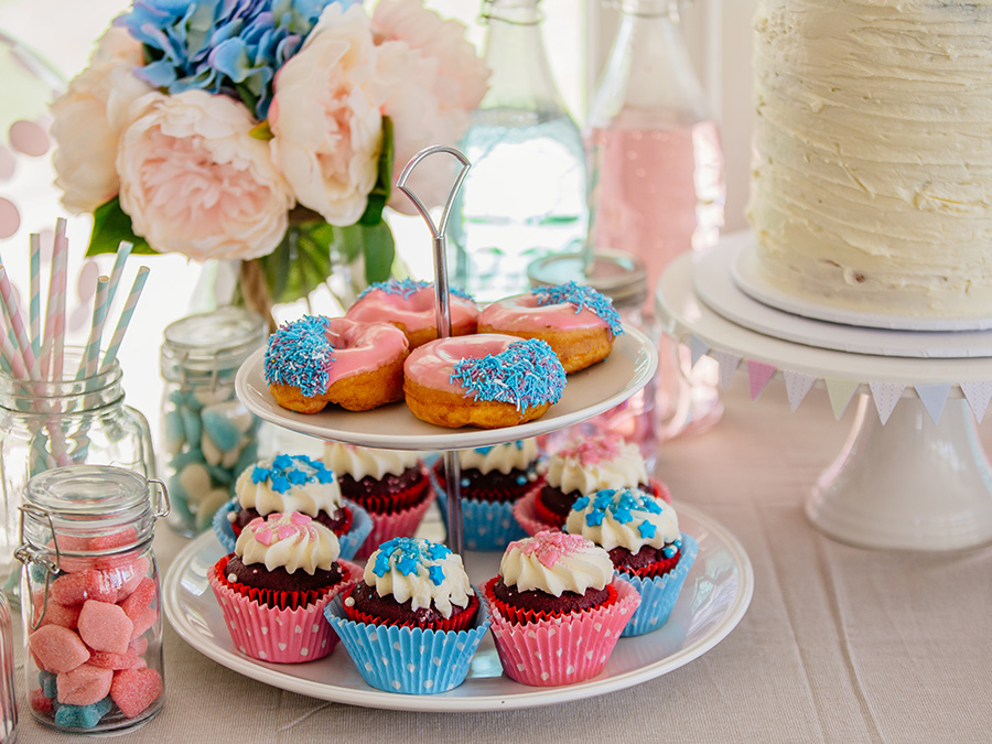
[[[550,455],[544,483],[520,499],[514,514],[530,535],[561,529],[575,499],[604,488],[639,488],[669,500],[665,486],[648,477],[636,444],[600,434],[570,442]]]

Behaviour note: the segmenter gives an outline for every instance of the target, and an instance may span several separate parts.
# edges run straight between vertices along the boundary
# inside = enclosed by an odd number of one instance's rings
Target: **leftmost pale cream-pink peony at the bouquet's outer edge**
[[[141,44],[127,31],[110,29],[97,42],[90,66],[52,104],[55,184],[72,213],[93,212],[117,195],[114,161],[130,122],[128,109],[151,90],[132,74],[140,64]]]

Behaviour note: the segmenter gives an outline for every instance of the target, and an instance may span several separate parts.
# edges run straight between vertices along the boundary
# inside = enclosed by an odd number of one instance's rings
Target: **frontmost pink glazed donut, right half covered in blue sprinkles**
[[[407,407],[441,427],[514,427],[542,417],[561,398],[565,374],[542,341],[500,334],[440,338],[403,365]]]

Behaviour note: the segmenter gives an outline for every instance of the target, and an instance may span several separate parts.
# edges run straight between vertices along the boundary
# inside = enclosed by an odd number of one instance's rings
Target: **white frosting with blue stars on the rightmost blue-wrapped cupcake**
[[[604,550],[626,548],[632,554],[644,546],[664,548],[681,537],[671,506],[629,488],[580,498],[569,511],[565,531],[582,535]]]

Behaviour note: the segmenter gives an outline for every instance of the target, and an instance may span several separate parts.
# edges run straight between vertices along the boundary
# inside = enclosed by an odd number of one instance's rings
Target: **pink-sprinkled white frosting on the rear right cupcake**
[[[563,494],[578,490],[587,496],[605,488],[636,488],[648,482],[648,474],[636,444],[592,436],[552,454],[547,479]]]

